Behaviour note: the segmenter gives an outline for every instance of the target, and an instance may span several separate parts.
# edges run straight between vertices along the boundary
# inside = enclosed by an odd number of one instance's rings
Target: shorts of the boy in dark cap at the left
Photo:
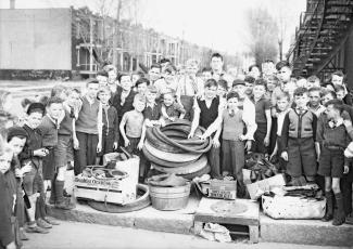
[[[23,188],[28,196],[42,192],[42,175],[40,170],[35,166],[23,176]]]

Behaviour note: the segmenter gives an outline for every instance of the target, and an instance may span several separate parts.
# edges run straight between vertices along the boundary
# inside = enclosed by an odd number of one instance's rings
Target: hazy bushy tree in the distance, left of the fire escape
[[[278,50],[278,26],[266,9],[256,8],[248,12],[251,34],[250,52],[255,63],[261,65],[265,60],[276,61]]]

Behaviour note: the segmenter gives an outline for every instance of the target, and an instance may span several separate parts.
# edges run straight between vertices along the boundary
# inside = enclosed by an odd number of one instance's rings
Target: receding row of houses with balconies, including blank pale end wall
[[[0,79],[86,78],[106,61],[122,71],[162,57],[175,65],[196,57],[207,66],[213,52],[88,8],[0,10]]]

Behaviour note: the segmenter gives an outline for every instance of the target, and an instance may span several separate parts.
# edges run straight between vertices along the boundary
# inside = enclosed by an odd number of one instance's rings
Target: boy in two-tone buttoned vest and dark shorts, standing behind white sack
[[[288,161],[287,173],[295,182],[302,175],[308,182],[315,181],[315,136],[317,117],[307,109],[308,93],[305,88],[294,91],[295,107],[285,117],[281,131],[281,157]]]

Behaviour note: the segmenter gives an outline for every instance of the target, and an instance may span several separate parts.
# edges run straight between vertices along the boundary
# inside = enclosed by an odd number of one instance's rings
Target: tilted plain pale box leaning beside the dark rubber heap
[[[276,174],[272,178],[254,182],[247,185],[247,189],[249,192],[251,199],[257,199],[260,197],[260,193],[269,191],[275,186],[285,186],[286,181],[283,174]]]

